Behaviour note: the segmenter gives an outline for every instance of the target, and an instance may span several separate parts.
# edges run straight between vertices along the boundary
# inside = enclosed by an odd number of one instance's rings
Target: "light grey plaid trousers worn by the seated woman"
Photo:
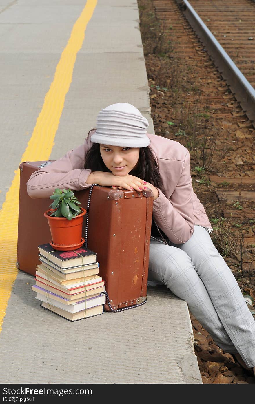
[[[165,284],[225,352],[255,366],[255,320],[242,292],[204,227],[184,244],[151,239],[148,285]]]

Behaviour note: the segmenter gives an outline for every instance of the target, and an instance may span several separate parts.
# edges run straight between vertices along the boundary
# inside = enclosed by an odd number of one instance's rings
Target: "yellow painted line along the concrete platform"
[[[87,0],[80,17],[74,24],[21,162],[48,160],[50,157],[64,107],[65,95],[72,82],[76,56],[82,47],[86,26],[93,15],[96,5],[97,0]],[[12,185],[0,210],[0,331],[2,330],[8,300],[11,297],[13,283],[18,273],[15,263],[18,235],[19,174],[18,168],[15,170]]]

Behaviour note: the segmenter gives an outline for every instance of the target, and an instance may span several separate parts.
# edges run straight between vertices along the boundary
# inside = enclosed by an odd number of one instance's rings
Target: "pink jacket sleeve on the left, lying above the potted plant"
[[[86,180],[91,170],[84,170],[88,138],[83,145],[69,151],[64,157],[35,171],[27,181],[27,194],[31,198],[48,198],[55,188],[78,191],[88,188]]]

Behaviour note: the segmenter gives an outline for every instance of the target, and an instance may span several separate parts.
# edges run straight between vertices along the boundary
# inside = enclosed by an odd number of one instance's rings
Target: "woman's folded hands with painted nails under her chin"
[[[158,189],[154,185],[130,174],[113,175],[104,171],[95,171],[89,175],[87,184],[89,183],[105,187],[111,186],[114,189],[128,189],[129,191],[133,191],[134,189],[135,191],[143,191],[150,188],[153,192],[153,200],[159,196]]]

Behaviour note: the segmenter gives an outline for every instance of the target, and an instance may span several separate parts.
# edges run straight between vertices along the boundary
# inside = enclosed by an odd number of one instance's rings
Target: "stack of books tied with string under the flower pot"
[[[88,248],[55,251],[50,244],[38,246],[36,284],[32,290],[41,306],[70,321],[103,313],[105,282],[99,273],[97,254]]]

